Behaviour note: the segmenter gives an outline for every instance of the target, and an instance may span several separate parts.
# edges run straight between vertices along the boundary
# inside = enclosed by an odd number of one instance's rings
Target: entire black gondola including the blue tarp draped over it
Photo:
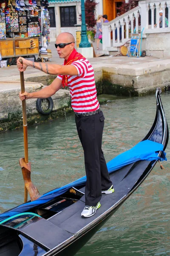
[[[115,192],[102,194],[91,218],[81,218],[85,177],[0,214],[0,256],[65,256],[77,251],[140,186],[155,164],[166,159],[168,126],[156,90],[156,117],[135,147],[108,163]],[[150,146],[151,145],[151,146]]]

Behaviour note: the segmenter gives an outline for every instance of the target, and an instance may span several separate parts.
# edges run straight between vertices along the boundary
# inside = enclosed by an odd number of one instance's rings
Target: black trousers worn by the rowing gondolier
[[[112,185],[102,151],[104,119],[102,111],[92,116],[75,116],[85,157],[85,205],[89,206],[96,206],[102,197],[102,190]]]

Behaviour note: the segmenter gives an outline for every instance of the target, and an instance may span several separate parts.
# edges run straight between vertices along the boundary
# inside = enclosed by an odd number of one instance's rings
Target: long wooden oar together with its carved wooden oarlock
[[[20,60],[23,64],[23,61]],[[24,73],[20,72],[20,82],[21,82],[21,93],[25,93],[24,84]],[[23,133],[24,133],[24,157],[20,158],[19,163],[23,173],[23,179],[25,183],[24,192],[24,203],[28,201],[28,193],[30,195],[31,201],[36,200],[40,197],[40,193],[37,188],[33,185],[31,181],[31,163],[28,163],[28,133],[27,133],[27,116],[26,116],[26,99],[22,101],[23,105]]]

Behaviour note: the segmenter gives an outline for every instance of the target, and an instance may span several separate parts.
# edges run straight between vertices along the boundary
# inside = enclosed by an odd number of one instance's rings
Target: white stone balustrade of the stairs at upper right
[[[168,27],[165,25],[165,11],[168,12]],[[162,10],[162,27],[159,27],[159,11]],[[156,22],[154,22],[156,13]],[[149,20],[149,15],[151,20]],[[140,17],[140,26],[139,26]],[[116,49],[131,38],[131,33],[143,29],[143,36],[149,33],[170,32],[170,0],[141,0],[139,6],[102,24],[102,47],[104,51]],[[111,33],[112,32],[112,33]],[[112,39],[111,39],[112,37]]]

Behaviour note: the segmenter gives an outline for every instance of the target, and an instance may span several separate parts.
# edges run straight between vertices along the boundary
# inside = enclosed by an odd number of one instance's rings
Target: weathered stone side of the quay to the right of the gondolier
[[[102,67],[103,92],[114,95],[142,96],[155,93],[157,87],[170,87],[170,61],[127,65],[105,65]]]

